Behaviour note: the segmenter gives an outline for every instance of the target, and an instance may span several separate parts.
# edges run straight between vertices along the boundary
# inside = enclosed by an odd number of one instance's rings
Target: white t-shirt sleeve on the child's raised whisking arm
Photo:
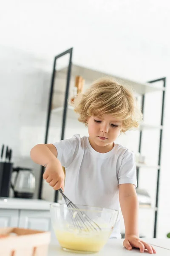
[[[52,143],[57,149],[57,158],[62,166],[67,168],[77,156],[81,144],[80,135],[75,134],[71,139]]]

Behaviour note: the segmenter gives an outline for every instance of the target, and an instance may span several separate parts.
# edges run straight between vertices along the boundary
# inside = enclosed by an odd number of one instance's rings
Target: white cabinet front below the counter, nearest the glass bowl
[[[51,231],[50,212],[40,210],[21,210],[19,227]]]

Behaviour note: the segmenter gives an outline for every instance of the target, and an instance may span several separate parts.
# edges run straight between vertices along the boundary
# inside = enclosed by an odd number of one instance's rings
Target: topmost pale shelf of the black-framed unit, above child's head
[[[67,67],[62,68],[60,70],[57,70],[57,77],[64,78],[67,74]],[[150,93],[154,91],[163,91],[164,87],[158,87],[156,85],[150,84],[150,83],[141,83],[138,81],[132,81],[130,79],[125,79],[119,76],[114,76],[113,74],[107,74],[101,71],[96,71],[92,69],[88,69],[86,67],[81,67],[78,65],[72,64],[71,67],[71,79],[75,76],[82,76],[85,79],[85,83],[88,80],[88,83],[93,82],[96,79],[99,79],[101,77],[111,77],[115,79],[120,84],[130,85],[133,87],[133,89],[136,91],[136,93],[144,94],[144,93]]]

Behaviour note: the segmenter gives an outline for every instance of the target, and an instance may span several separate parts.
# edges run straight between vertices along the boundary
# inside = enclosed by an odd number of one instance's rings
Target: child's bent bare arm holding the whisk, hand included
[[[31,149],[31,159],[42,166],[45,166],[43,178],[53,189],[64,190],[65,175],[62,165],[57,159],[57,149],[53,144],[38,144]]]

